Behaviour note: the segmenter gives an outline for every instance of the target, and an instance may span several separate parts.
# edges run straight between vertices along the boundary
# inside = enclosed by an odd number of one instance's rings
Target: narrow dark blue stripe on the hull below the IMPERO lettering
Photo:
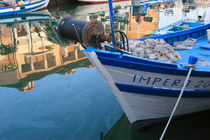
[[[120,91],[130,92],[136,94],[145,94],[152,96],[166,96],[166,97],[178,97],[180,90],[171,90],[171,89],[161,89],[161,88],[151,88],[144,86],[135,86],[122,83],[115,83]],[[204,90],[192,90],[185,91],[183,93],[184,98],[209,98],[210,91]]]

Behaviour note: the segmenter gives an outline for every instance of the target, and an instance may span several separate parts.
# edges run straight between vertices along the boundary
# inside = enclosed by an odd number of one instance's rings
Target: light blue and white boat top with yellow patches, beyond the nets
[[[201,18],[201,17],[200,17]],[[162,35],[162,34],[168,34],[168,33],[173,33],[173,32],[178,32],[182,30],[188,30],[188,29],[193,29],[198,26],[202,26],[204,24],[207,24],[205,22],[200,22],[202,19],[182,19],[179,20],[175,23],[172,23],[170,25],[167,25],[163,28],[160,28],[152,33],[152,35]]]

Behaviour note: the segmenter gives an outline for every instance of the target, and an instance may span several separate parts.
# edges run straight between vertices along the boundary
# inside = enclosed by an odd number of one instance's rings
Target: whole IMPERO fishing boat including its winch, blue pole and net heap
[[[112,20],[113,13],[110,16],[110,21]],[[68,37],[69,33],[76,32],[81,44],[85,45],[85,55],[107,80],[129,121],[137,128],[144,123],[158,122],[171,116],[180,97],[182,99],[179,107],[173,114],[175,117],[210,109],[210,44],[206,37],[210,23],[188,30],[130,40],[131,44],[134,42],[136,49],[132,52],[132,45],[125,47],[125,42],[122,43],[124,46],[122,48],[118,47],[119,44],[116,46],[113,22],[111,22],[113,43],[103,44],[98,49],[90,47],[91,45],[86,42],[99,37],[103,32],[103,29],[100,29],[97,35],[94,30],[91,35],[88,26],[97,29],[101,25],[97,25],[98,22],[95,21],[84,25],[82,33],[87,35],[80,37],[77,27],[71,27],[74,25],[71,21],[74,22],[68,18],[61,20],[59,26],[61,34]],[[89,41],[86,41],[88,39]],[[190,40],[194,40],[194,43]],[[172,45],[187,41],[192,43],[191,49],[174,51]],[[155,53],[148,54],[148,58],[142,57],[139,55],[141,51],[144,54],[151,50],[142,50],[141,47],[156,50],[159,57],[154,56]],[[168,55],[171,57],[170,52],[178,53],[179,59],[176,61],[162,59]],[[137,55],[134,55],[135,53]]]

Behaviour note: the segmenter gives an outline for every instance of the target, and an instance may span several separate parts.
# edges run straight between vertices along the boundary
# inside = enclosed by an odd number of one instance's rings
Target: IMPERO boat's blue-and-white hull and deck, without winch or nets
[[[207,28],[210,24],[193,32],[186,30],[150,39],[164,39],[173,44],[189,37],[200,38],[206,35]],[[140,40],[146,39],[149,38]],[[190,55],[208,64],[198,65],[192,71],[175,116],[210,109],[210,51],[203,49],[205,47],[210,48],[210,44],[207,38],[202,38],[192,50],[179,50],[182,59],[176,63],[136,57],[112,47],[108,47],[112,51],[88,48],[85,54],[108,81],[129,121],[139,125],[139,122],[170,116],[189,70],[184,64],[188,63]]]

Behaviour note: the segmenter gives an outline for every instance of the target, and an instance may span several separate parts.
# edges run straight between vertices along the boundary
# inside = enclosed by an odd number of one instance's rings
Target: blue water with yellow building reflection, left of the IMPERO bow
[[[48,10],[0,19],[0,139],[99,140],[122,114],[58,20]]]

